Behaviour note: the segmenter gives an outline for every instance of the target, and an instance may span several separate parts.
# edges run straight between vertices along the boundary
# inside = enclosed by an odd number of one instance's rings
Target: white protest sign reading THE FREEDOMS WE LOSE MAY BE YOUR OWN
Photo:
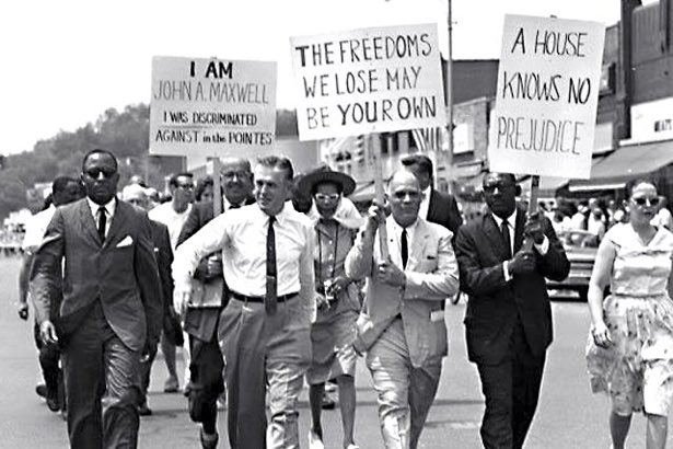
[[[437,24],[291,38],[301,140],[446,125]]]

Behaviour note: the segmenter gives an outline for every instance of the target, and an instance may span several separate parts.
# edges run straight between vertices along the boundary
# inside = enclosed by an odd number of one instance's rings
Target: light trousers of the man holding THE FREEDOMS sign
[[[415,449],[434,401],[442,358],[414,367],[402,319],[396,319],[369,349],[367,367],[379,395],[379,423],[385,448]]]

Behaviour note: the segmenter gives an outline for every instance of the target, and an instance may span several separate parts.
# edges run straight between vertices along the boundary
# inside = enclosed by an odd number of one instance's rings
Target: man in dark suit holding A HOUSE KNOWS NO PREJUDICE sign
[[[487,173],[483,185],[489,211],[462,226],[454,242],[461,288],[469,296],[467,355],[486,398],[484,446],[521,448],[552,343],[545,277],[562,280],[570,264],[549,220],[526,219],[517,207],[521,188],[512,174]]]

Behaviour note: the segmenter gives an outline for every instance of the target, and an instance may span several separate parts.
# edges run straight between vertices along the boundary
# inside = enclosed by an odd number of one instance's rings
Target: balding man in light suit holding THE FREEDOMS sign
[[[374,206],[346,258],[346,274],[367,277],[365,303],[356,347],[379,393],[386,448],[416,448],[434,400],[446,355],[444,299],[457,291],[451,231],[418,217],[421,191],[408,171],[388,184],[392,216]],[[376,244],[379,223],[387,233],[387,258]]]

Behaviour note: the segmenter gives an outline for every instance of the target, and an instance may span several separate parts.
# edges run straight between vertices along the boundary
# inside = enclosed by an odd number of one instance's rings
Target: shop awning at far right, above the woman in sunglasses
[[[648,175],[673,162],[673,140],[620,147],[591,168],[591,179],[571,181],[570,192],[622,188],[629,180]]]

